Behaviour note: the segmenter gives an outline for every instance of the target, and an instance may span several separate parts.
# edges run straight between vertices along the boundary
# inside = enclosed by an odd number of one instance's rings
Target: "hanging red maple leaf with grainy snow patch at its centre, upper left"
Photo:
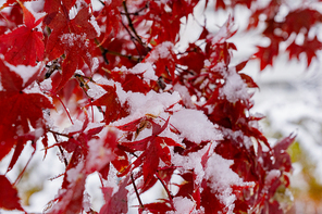
[[[96,38],[97,32],[89,23],[88,8],[81,9],[73,20],[64,13],[58,13],[52,20],[47,17],[45,23],[52,28],[46,45],[47,60],[54,60],[65,53],[62,78],[55,88],[55,91],[59,91],[74,75],[76,68],[83,67],[84,62],[92,68],[92,43],[89,39]]]

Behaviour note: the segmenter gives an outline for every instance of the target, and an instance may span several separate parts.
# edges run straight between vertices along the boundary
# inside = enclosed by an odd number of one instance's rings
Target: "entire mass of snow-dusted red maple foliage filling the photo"
[[[215,8],[242,4],[250,9],[257,1],[225,2],[215,1]],[[100,175],[106,202],[100,213],[126,213],[131,193],[138,199],[139,213],[179,212],[182,199],[190,202],[186,213],[283,213],[276,193],[289,186],[292,166],[285,150],[294,137],[271,148],[258,129],[261,117],[250,113],[248,91],[258,86],[242,72],[247,61],[231,65],[232,52],[237,50],[228,41],[236,33],[233,18],[218,34],[203,27],[195,42],[177,52],[174,46],[179,40],[181,18],[187,18],[198,1],[98,3],[101,9],[92,11],[86,0],[45,0],[44,7],[35,11],[45,14],[40,18],[24,1],[11,0],[3,5],[9,12],[2,11],[0,16],[5,23],[0,26],[0,161],[14,150],[8,172],[27,142],[36,151],[37,141],[41,141],[46,151],[59,148],[65,164],[61,191],[49,207],[52,213],[96,213],[83,204],[85,181],[94,172]],[[310,64],[321,48],[317,37],[308,36],[312,25],[321,22],[321,14],[301,8],[277,22],[274,17],[281,4],[272,0],[265,8],[257,8],[250,17],[252,28],[260,15],[265,15],[263,35],[271,39],[269,47],[259,47],[256,53],[261,70],[272,64],[280,43],[293,34],[305,34],[305,40],[288,46],[289,58],[306,53]],[[28,75],[20,75],[21,70]],[[97,76],[103,80],[96,81]],[[181,99],[169,104],[158,96]],[[138,99],[148,97],[152,104]],[[149,112],[150,105],[160,103],[158,115]],[[59,131],[50,125],[49,109],[62,106],[70,111],[60,117],[70,117],[73,125]],[[187,109],[191,114],[202,113],[218,137],[209,139],[196,133],[201,140],[194,141],[196,138],[185,134],[187,124],[175,127],[171,119]],[[97,122],[88,112],[96,112],[102,119]],[[75,118],[84,121],[81,127],[74,125]],[[60,118],[54,119],[59,124]],[[49,142],[49,136],[57,142]],[[234,161],[230,167],[223,166],[231,172],[226,176],[238,176],[244,181],[223,186],[228,192],[225,197],[234,200],[224,200],[220,188],[214,188],[225,179],[209,171],[216,156]],[[177,159],[194,164],[186,166]],[[104,185],[111,179],[111,171],[116,171],[121,180],[116,188]],[[175,176],[184,181],[173,181]],[[157,182],[166,197],[143,202],[140,194]],[[177,191],[171,191],[172,186]],[[0,175],[0,187],[5,189],[0,192],[0,207],[24,211],[15,185],[4,175]]]

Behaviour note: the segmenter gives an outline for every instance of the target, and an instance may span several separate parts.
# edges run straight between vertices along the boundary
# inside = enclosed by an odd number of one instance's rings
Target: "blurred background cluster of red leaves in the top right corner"
[[[262,2],[255,0],[237,0],[232,1],[231,4],[225,3],[223,0],[218,0],[215,9],[235,8],[236,5],[247,5],[255,10],[251,11],[249,18],[248,29],[256,28],[260,23],[265,24],[262,36],[270,39],[270,45],[267,47],[258,47],[258,52],[255,54],[260,60],[260,68],[264,70],[268,65],[273,65],[274,58],[280,53],[280,45],[287,43],[286,51],[288,51],[289,60],[297,58],[304,53],[307,56],[308,66],[311,64],[312,59],[317,56],[317,52],[322,49],[321,41],[317,35],[312,37],[310,34],[314,32],[318,24],[322,23],[322,13],[315,10],[310,4],[301,5],[294,9],[288,7],[289,12],[283,21],[275,18],[276,15],[285,7],[284,1],[270,0],[264,5],[258,5]],[[290,5],[294,2],[289,2]],[[302,41],[297,40],[297,37]],[[283,50],[282,50],[283,51]]]

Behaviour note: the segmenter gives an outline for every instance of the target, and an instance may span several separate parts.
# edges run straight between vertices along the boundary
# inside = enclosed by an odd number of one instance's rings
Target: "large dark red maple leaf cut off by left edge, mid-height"
[[[30,137],[26,136],[33,128],[45,129],[42,110],[52,109],[50,100],[41,93],[25,92],[27,86],[16,73],[10,71],[0,60],[0,160],[14,147],[18,138],[25,138],[25,143]],[[5,135],[4,135],[5,133]],[[24,137],[25,136],[25,137]]]

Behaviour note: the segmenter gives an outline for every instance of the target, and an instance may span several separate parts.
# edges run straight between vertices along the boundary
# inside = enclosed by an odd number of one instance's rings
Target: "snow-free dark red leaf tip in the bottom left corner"
[[[8,178],[3,175],[0,175],[0,207],[5,210],[20,210],[24,211],[20,203],[20,198],[17,191]]]

